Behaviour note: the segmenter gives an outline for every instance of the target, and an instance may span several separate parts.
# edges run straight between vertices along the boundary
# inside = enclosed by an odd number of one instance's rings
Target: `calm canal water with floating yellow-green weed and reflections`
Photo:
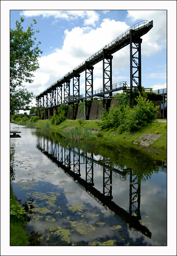
[[[13,129],[12,187],[31,245],[167,245],[166,151]]]

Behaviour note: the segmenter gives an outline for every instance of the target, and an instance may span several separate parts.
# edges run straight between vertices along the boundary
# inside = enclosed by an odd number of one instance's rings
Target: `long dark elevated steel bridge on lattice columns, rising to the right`
[[[54,108],[60,106],[65,99],[65,103],[74,104],[86,98],[95,96],[109,98],[112,92],[125,88],[126,82],[112,84],[112,54],[130,44],[130,105],[132,107],[132,98],[134,91],[141,91],[141,36],[148,33],[153,28],[153,21],[143,20],[138,22],[120,34],[103,48],[92,54],[87,60],[79,64],[72,71],[54,82],[49,88],[36,97],[36,106],[38,109]],[[103,62],[103,86],[102,91],[96,93],[93,91],[93,70],[94,65]],[[85,72],[85,94],[80,95],[80,74]],[[73,79],[73,88],[71,95],[70,82]],[[62,90],[63,88],[63,90]],[[136,90],[134,90],[136,88]],[[63,91],[63,92],[62,92]],[[103,101],[104,107],[105,101]]]

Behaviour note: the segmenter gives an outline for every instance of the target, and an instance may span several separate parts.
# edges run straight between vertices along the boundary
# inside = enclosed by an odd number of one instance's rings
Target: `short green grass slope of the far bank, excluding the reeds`
[[[31,127],[55,130],[64,138],[66,137],[67,132],[70,132],[73,128],[85,128],[86,130],[88,129],[92,132],[92,135],[88,140],[96,142],[129,142],[140,144],[141,141],[138,140],[139,138],[142,138],[142,140],[146,139],[142,136],[143,134],[158,134],[161,136],[159,136],[159,138],[153,140],[152,142],[149,141],[150,143],[146,143],[146,146],[150,148],[167,148],[166,122],[159,122],[159,120],[155,120],[155,122],[151,122],[150,124],[142,127],[138,131],[130,133],[126,132],[123,134],[120,134],[118,130],[102,131],[98,126],[98,122],[99,120],[83,121],[81,119],[77,119],[65,120],[59,125],[53,125],[51,124],[51,120],[38,120],[35,123],[28,122],[27,126],[29,128]]]

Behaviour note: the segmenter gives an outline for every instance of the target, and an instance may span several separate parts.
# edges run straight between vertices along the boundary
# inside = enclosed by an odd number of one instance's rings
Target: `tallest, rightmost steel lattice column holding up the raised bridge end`
[[[142,67],[141,67],[141,38],[136,38],[130,30],[130,107],[133,106],[133,93],[141,92]],[[136,88],[133,91],[133,88]]]

